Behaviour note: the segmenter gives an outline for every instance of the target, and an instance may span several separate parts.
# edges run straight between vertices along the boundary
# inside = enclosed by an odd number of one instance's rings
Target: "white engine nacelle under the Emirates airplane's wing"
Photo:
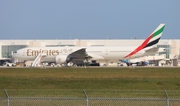
[[[57,64],[64,64],[69,62],[69,58],[67,55],[58,55],[55,57],[55,61]]]

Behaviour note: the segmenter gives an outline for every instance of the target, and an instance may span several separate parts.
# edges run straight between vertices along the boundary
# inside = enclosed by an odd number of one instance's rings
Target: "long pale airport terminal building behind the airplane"
[[[61,46],[139,46],[144,39],[54,39],[54,40],[0,40],[0,65],[12,58],[12,52],[25,47],[61,47]],[[154,55],[154,58],[163,55],[165,59],[180,58],[179,39],[161,39],[158,47],[166,48],[166,52]]]

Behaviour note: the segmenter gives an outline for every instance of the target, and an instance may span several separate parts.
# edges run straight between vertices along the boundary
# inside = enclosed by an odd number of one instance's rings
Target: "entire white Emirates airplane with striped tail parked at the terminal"
[[[165,24],[160,24],[148,38],[137,46],[97,46],[97,47],[27,47],[18,50],[13,57],[22,61],[55,62],[68,64],[69,62],[111,61],[132,59],[155,54]]]

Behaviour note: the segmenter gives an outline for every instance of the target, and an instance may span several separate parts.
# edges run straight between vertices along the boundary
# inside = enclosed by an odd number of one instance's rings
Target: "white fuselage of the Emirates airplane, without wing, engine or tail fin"
[[[39,53],[43,53],[45,56],[42,61],[55,62],[55,57],[58,55],[68,55],[79,49],[85,48],[86,53],[92,56],[92,60],[121,60],[129,54],[136,46],[112,46],[112,47],[29,47],[20,49],[13,55],[13,57],[34,61]],[[144,51],[140,51],[130,58],[142,56]]]

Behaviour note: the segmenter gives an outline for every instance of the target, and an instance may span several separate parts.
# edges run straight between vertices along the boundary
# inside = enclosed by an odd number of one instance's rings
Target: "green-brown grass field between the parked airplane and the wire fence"
[[[180,90],[180,68],[0,68],[0,89],[0,96],[4,95],[3,89],[12,96],[39,96],[42,92],[52,96],[65,91],[72,95],[71,91],[82,92],[83,89]],[[77,92],[74,95],[78,95]]]

